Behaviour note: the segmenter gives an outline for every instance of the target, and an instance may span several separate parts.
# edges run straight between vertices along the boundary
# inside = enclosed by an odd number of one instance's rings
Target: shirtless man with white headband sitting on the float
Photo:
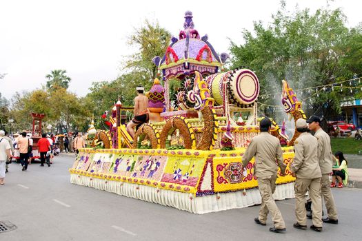
[[[134,118],[127,125],[127,132],[134,138],[134,127],[136,130],[143,124],[148,123],[148,98],[143,94],[145,88],[138,86],[136,88],[137,96],[134,98]]]

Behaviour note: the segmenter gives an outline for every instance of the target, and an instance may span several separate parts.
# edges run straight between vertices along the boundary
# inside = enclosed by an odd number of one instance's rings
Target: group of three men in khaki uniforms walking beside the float
[[[278,167],[281,176],[285,176],[286,165],[283,163],[283,152],[279,139],[269,132],[272,123],[269,118],[260,122],[259,136],[252,141],[243,155],[243,165],[255,157],[254,176],[257,177],[261,193],[261,209],[258,218],[254,221],[266,225],[268,213],[272,216],[274,227],[269,230],[275,233],[286,231],[285,222],[273,198]],[[307,229],[307,211],[305,209],[305,195],[309,191],[312,200],[312,226],[314,231],[322,231],[322,224],[338,224],[336,206],[330,189],[330,173],[334,163],[330,147],[330,136],[321,128],[319,116],[310,116],[308,121],[299,118],[296,129],[301,132],[294,142],[294,160],[290,165],[292,176],[296,177],[294,184],[296,229]],[[314,136],[310,134],[314,132]],[[325,201],[328,218],[322,218],[322,198]]]

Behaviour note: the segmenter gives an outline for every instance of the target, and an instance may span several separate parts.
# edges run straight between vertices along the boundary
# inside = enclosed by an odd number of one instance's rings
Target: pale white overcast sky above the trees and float
[[[312,11],[325,7],[325,0],[289,0],[287,9]],[[361,19],[361,1],[336,0],[330,9],[342,8],[348,26]],[[268,23],[279,0],[253,1],[0,1],[0,92],[33,90],[46,83],[51,70],[67,70],[70,90],[79,96],[93,81],[111,81],[121,73],[126,44],[144,19],[158,20],[161,27],[178,36],[183,17],[191,10],[195,29],[208,34],[217,52],[228,52],[228,38],[241,43],[241,31],[252,30],[253,21]]]

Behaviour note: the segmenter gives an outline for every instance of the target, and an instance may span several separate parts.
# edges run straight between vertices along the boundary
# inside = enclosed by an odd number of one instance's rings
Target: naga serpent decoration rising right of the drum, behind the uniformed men
[[[296,98],[293,89],[289,86],[287,81],[282,81],[282,83],[283,88],[281,94],[281,103],[284,105],[284,112],[290,116],[290,119],[294,118],[294,122],[296,122],[299,118],[306,120],[307,117],[305,116],[303,109],[301,109],[302,103]],[[301,132],[298,132],[298,130],[295,128],[294,135],[292,140],[290,140],[288,143],[288,146],[294,145],[295,139],[298,138],[300,134]]]

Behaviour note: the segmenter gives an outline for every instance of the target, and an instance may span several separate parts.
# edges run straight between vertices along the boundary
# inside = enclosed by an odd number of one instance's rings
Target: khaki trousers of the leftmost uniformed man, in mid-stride
[[[268,178],[258,178],[259,191],[261,195],[261,208],[259,211],[259,221],[266,223],[268,213],[272,214],[272,220],[276,229],[285,229],[285,222],[281,216],[281,211],[276,206],[273,193],[275,191],[276,175]]]

